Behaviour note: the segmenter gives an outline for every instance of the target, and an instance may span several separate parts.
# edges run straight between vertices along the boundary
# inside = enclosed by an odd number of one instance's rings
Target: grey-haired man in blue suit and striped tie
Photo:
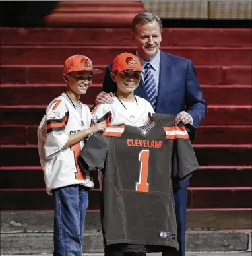
[[[137,47],[135,55],[141,61],[142,71],[148,74],[142,75],[135,94],[148,100],[156,113],[177,115],[176,124],[182,122],[197,127],[206,115],[207,104],[195,67],[189,59],[160,51],[161,30],[160,18],[152,13],[139,13],[133,19],[132,36]],[[111,94],[117,90],[110,73],[111,64],[106,69],[102,92],[98,94],[96,104],[110,103]],[[185,256],[188,185],[189,180],[183,183],[173,181],[180,256]]]

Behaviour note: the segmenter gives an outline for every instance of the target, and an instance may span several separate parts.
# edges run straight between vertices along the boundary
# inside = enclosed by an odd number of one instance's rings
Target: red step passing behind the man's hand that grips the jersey
[[[91,108],[92,105],[89,105]],[[46,105],[1,106],[2,125],[39,125]],[[201,125],[251,125],[251,106],[210,105]]]

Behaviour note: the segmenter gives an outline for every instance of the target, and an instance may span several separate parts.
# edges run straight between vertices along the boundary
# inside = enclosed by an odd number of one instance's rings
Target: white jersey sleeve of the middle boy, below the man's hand
[[[105,121],[106,124],[110,123],[113,118],[110,104],[98,104],[91,112],[92,121],[94,124]]]

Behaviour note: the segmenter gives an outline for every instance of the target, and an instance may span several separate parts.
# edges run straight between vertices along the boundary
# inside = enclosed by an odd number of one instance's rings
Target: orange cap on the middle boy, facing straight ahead
[[[113,60],[112,72],[125,70],[141,71],[139,58],[131,53],[121,53]]]

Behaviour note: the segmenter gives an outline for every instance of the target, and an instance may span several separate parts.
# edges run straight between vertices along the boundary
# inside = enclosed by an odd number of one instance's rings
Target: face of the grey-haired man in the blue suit
[[[133,38],[139,56],[146,61],[150,61],[158,52],[162,40],[158,22],[154,20],[150,23],[139,23],[136,26],[135,33],[133,33]]]

